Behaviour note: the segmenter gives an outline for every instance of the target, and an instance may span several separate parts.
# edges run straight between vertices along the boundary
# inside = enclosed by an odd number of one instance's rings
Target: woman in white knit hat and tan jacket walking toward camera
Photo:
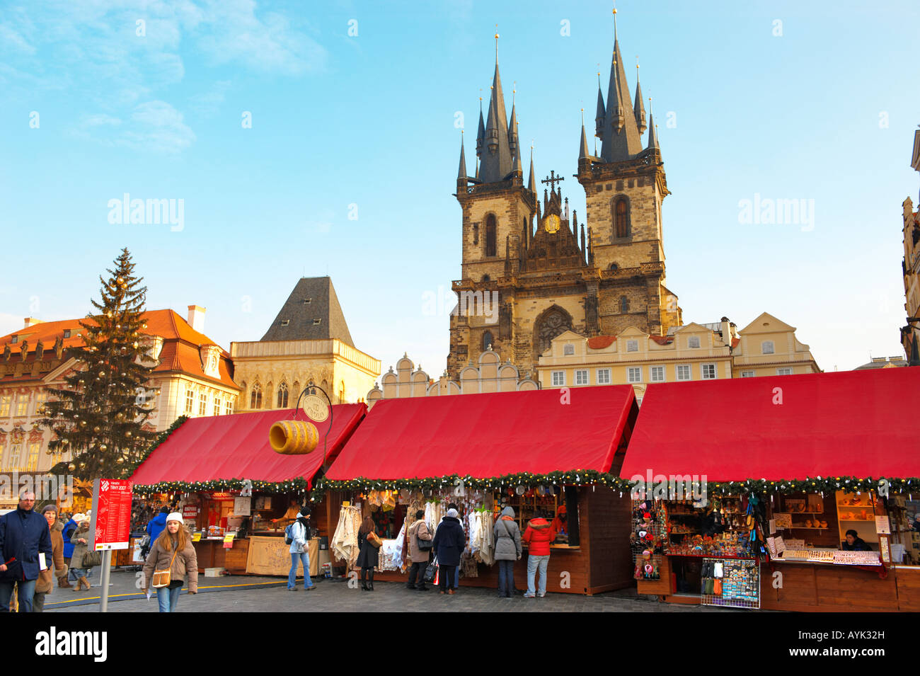
[[[178,511],[167,516],[167,527],[156,538],[144,563],[144,593],[150,588],[154,572],[165,570],[169,571],[169,584],[156,588],[156,600],[160,613],[173,613],[186,576],[189,593],[198,593],[198,556]]]

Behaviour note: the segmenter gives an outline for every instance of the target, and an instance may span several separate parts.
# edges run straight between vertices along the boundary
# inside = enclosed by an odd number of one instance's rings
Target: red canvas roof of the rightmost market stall
[[[620,477],[916,476],[918,411],[916,367],[650,384]]]

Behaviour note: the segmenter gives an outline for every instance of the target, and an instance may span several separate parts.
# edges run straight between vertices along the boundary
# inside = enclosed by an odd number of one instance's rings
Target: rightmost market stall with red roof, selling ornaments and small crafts
[[[650,385],[620,470],[639,592],[917,610],[918,409],[916,369]]]

